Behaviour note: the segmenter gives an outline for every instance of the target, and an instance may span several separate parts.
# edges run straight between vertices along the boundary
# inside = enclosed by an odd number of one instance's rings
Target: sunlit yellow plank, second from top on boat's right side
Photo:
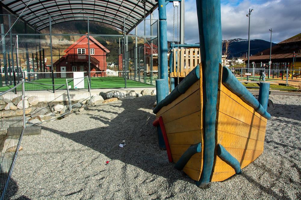
[[[220,92],[219,111],[265,132],[266,122],[251,113],[224,92]]]

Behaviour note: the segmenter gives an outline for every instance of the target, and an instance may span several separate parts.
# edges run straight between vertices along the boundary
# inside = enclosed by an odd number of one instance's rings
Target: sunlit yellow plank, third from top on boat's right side
[[[217,130],[264,141],[265,132],[219,112]]]

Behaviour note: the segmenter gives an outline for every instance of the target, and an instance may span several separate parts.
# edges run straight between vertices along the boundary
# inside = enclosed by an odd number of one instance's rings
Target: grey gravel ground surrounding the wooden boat
[[[144,96],[91,107],[24,136],[6,199],[300,199],[301,97],[270,99],[263,154],[209,189],[197,188],[158,149],[155,97]]]

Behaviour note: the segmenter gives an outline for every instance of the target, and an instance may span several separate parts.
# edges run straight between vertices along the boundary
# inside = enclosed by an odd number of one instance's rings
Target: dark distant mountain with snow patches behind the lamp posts
[[[229,57],[240,57],[243,56],[243,54],[248,52],[248,40],[244,39],[231,39],[229,40]],[[262,50],[270,48],[271,43],[269,41],[265,40],[259,40],[259,39],[254,39],[250,40],[250,56],[254,55],[258,52],[261,52]],[[275,43],[272,43],[272,47],[275,46]],[[228,57],[228,58],[229,58]]]

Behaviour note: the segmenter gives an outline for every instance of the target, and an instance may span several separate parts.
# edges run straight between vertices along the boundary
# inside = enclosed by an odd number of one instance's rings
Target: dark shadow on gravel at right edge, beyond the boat
[[[301,106],[300,105],[287,105],[287,104],[274,104],[277,108],[268,108],[268,112],[274,117],[285,117],[292,120],[301,119]]]

